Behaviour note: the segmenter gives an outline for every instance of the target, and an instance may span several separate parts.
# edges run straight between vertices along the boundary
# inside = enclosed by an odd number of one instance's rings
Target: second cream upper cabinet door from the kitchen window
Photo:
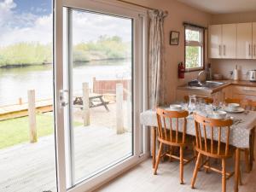
[[[222,25],[222,58],[236,58],[236,24]]]

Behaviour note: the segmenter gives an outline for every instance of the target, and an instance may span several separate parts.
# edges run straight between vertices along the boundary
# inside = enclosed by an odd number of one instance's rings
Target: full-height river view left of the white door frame
[[[0,191],[56,191],[52,0],[2,0],[0,15]]]

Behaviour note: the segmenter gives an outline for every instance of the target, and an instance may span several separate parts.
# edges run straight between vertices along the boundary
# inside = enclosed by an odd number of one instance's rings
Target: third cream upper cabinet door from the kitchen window
[[[236,58],[252,59],[253,58],[253,24],[238,23],[236,24]]]

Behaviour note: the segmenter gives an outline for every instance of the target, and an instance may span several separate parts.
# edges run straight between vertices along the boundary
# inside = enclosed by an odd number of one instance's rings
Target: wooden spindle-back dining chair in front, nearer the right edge
[[[201,166],[208,170],[222,174],[222,192],[226,191],[226,179],[234,172],[226,172],[226,160],[235,154],[236,148],[230,146],[231,119],[209,119],[194,113],[195,119],[195,151],[198,153],[195,170],[193,173],[191,187],[195,186],[197,172],[200,169],[201,157],[206,156],[207,160]],[[226,134],[223,138],[223,134]],[[215,136],[215,137],[214,137]],[[216,138],[217,137],[217,138]],[[223,141],[225,141],[223,143]],[[222,160],[222,170],[210,166],[208,159]]]

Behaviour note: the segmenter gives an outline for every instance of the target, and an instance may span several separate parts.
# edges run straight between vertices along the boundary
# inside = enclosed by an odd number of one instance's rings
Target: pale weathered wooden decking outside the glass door
[[[131,152],[131,133],[117,135],[104,126],[74,129],[76,179],[90,175]],[[54,136],[0,150],[0,192],[55,189]]]

